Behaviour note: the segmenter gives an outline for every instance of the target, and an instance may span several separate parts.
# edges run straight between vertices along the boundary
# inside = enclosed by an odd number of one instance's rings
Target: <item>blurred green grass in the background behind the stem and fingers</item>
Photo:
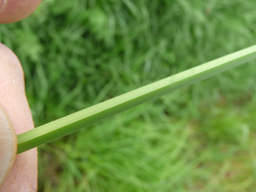
[[[44,0],[0,26],[36,126],[256,44],[256,1]],[[255,191],[256,66],[38,148],[38,191]]]

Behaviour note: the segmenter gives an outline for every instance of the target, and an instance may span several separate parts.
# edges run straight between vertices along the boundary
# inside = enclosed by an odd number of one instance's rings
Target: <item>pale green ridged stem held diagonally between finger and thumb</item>
[[[18,154],[256,59],[256,45],[193,67],[18,135]]]

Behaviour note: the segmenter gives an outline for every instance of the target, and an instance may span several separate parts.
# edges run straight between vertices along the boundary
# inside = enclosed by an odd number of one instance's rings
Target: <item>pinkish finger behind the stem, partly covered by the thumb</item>
[[[0,102],[17,134],[34,128],[25,94],[24,73],[15,54],[0,44]],[[0,191],[36,191],[37,150],[18,154]]]

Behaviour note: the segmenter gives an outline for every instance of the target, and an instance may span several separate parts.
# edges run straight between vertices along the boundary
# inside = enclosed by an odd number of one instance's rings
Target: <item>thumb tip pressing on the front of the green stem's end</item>
[[[0,187],[11,171],[17,153],[17,137],[11,119],[0,104]]]

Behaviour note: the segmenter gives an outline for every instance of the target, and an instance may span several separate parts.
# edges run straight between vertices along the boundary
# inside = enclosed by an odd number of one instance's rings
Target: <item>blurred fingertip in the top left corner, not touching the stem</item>
[[[41,2],[42,0],[0,0],[0,24],[27,18]]]

